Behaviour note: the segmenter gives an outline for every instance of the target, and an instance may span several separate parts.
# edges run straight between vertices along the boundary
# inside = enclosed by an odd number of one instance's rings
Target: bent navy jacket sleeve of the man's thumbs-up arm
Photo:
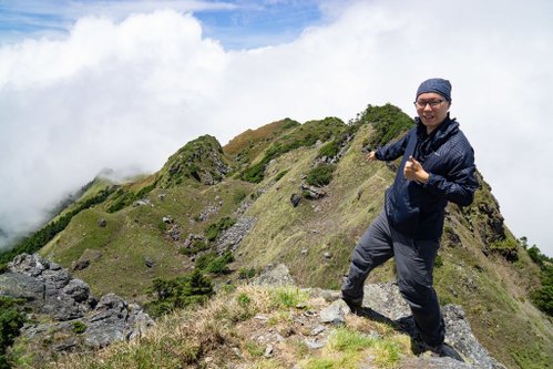
[[[446,176],[430,173],[423,188],[452,203],[468,206],[472,204],[474,191],[478,188],[475,170],[474,154],[470,148],[453,160],[451,170]]]

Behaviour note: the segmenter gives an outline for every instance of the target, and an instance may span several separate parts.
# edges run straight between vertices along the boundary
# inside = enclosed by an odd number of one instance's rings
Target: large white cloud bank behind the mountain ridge
[[[508,226],[553,255],[553,6],[320,7],[328,24],[254,50],[227,51],[172,9],[82,17],[65,38],[0,45],[0,239],[102,168],[155,172],[198,135],[225,144],[285,116],[347,121],[386,102],[413,115],[418,84],[443,76]]]

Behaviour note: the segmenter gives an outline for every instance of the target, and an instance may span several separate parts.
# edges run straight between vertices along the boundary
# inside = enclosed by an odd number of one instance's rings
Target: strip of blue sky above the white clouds
[[[316,0],[0,0],[0,42],[66,37],[74,22],[85,16],[122,20],[136,11],[163,8],[192,11],[202,22],[205,37],[217,39],[227,50],[290,42],[324,18]]]

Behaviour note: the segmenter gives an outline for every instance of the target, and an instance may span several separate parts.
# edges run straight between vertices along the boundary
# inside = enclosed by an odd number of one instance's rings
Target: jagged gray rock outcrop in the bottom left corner
[[[99,301],[90,295],[88,284],[39,255],[19,255],[8,269],[0,275],[0,296],[22,298],[33,314],[53,320],[22,328],[23,337],[45,348],[44,356],[129,340],[154,324],[139,305],[129,305],[114,294]]]

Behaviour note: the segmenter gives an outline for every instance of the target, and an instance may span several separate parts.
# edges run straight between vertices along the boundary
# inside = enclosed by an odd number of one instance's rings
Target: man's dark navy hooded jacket
[[[378,160],[392,161],[403,155],[393,185],[386,191],[385,209],[391,226],[414,239],[439,239],[443,232],[449,202],[470,205],[478,182],[474,151],[459,123],[449,117],[430,135],[417,117],[417,126],[393,144],[379,147]],[[430,174],[428,183],[409,181],[403,167],[409,155]]]

